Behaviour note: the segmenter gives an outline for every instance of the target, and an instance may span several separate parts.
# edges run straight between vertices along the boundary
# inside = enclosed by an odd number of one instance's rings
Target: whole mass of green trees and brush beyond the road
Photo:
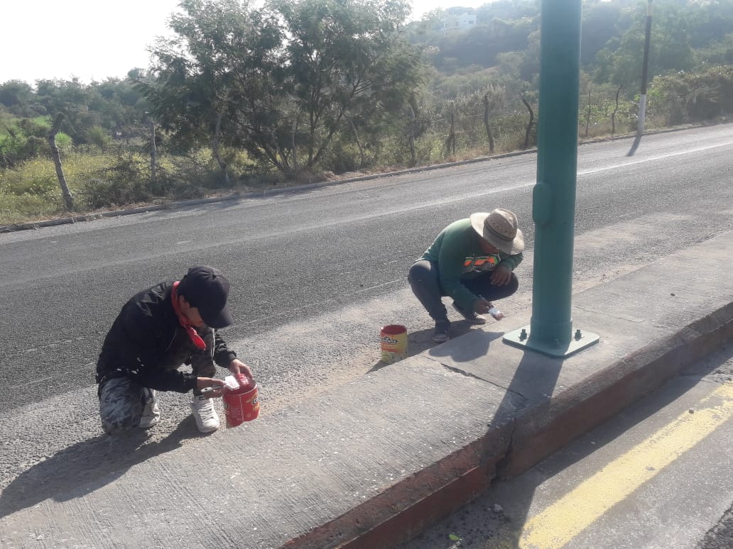
[[[262,188],[524,146],[539,1],[487,2],[473,28],[447,34],[446,10],[405,24],[406,0],[254,5],[183,0],[150,71],[0,83],[0,218],[63,213],[46,138],[58,113],[56,143],[82,208],[196,198],[223,190],[225,170],[227,190]],[[731,116],[733,0],[654,7],[647,127]],[[646,10],[584,0],[581,137],[635,129]]]

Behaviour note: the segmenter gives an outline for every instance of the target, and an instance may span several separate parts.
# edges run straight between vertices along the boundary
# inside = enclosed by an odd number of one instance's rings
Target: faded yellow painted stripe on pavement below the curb
[[[655,477],[712,431],[733,417],[733,384],[723,384],[578,488],[527,520],[522,549],[559,549],[594,520]]]

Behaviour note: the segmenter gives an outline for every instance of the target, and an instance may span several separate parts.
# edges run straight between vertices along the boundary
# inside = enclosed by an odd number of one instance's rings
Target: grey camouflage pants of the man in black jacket
[[[211,329],[202,332],[208,353],[194,353],[190,351],[173,352],[164,359],[163,367],[177,370],[191,358],[191,371],[194,374],[207,378],[216,375],[213,362],[214,333]],[[180,348],[180,347],[177,347]],[[194,390],[194,394],[200,394]],[[145,401],[150,397],[150,389],[136,383],[128,377],[111,378],[100,384],[99,387],[99,415],[102,419],[102,428],[109,435],[124,433],[139,427],[140,418],[145,408]]]

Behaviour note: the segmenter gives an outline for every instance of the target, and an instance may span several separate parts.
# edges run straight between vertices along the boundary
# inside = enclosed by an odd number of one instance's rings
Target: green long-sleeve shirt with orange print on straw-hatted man
[[[466,217],[444,228],[420,258],[438,265],[441,289],[463,310],[474,310],[476,299],[479,299],[463,282],[493,271],[499,265],[505,265],[513,271],[523,259],[521,253],[487,254],[480,242],[481,236],[474,231],[471,220]]]

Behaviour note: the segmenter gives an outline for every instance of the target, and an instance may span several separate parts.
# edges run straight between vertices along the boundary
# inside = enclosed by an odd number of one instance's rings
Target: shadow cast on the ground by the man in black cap
[[[132,466],[182,446],[186,438],[200,435],[194,419],[187,417],[159,441],[149,441],[147,431],[127,436],[96,436],[56,452],[23,471],[0,494],[0,518],[33,507],[46,499],[70,501],[85,496],[122,477]]]

